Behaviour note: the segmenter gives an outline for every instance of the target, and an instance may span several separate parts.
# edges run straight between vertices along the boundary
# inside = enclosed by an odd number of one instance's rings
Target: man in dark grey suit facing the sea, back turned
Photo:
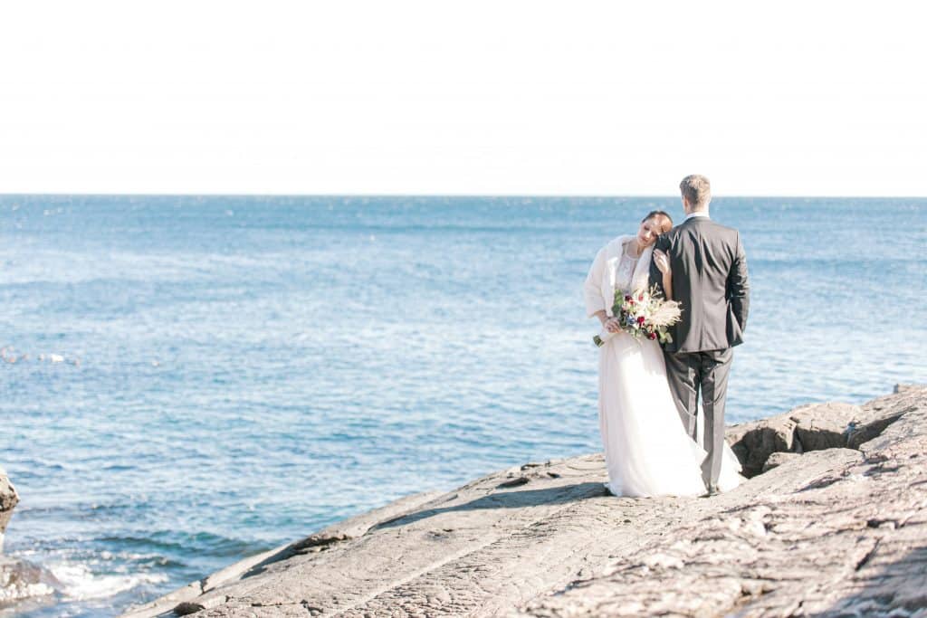
[[[667,254],[672,270],[672,296],[682,319],[669,329],[673,340],[664,345],[669,390],[682,424],[696,438],[698,394],[705,413],[702,463],[708,496],[717,494],[724,447],[724,402],[732,347],[743,343],[750,288],[747,260],[737,230],[708,216],[711,186],[705,176],[692,174],[679,183],[686,220],[660,236],[655,249]],[[655,261],[650,281],[663,289]]]

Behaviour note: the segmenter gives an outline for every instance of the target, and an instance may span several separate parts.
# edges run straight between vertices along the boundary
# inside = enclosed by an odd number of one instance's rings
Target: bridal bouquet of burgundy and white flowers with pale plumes
[[[654,285],[649,290],[635,292],[616,290],[612,314],[621,323],[621,330],[635,339],[659,339],[664,344],[673,340],[667,328],[679,322],[681,311],[678,302],[664,298]],[[616,334],[603,331],[592,337],[592,341],[602,347]]]

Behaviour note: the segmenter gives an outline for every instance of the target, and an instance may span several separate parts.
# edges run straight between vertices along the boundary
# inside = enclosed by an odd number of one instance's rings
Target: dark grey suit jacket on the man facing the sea
[[[667,352],[702,352],[743,343],[750,306],[747,259],[741,235],[707,217],[692,217],[656,240],[673,269],[673,299],[682,319],[670,328]],[[655,263],[650,281],[663,290]]]

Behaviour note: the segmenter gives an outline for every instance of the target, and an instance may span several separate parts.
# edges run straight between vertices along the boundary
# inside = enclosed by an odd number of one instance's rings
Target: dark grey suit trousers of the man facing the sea
[[[729,347],[705,352],[666,352],[669,391],[676,401],[682,425],[697,439],[698,393],[702,391],[705,435],[702,447],[708,456],[702,463],[705,486],[717,487],[724,448],[724,403],[728,393],[728,374],[734,352]]]

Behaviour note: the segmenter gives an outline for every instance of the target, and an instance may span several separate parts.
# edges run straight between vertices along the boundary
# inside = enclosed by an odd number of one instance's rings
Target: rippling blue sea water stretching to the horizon
[[[6,613],[116,615],[394,498],[600,450],[581,284],[653,208],[681,219],[668,196],[0,196],[6,553],[65,586]],[[927,382],[927,199],[712,216],[753,287],[729,423]]]

